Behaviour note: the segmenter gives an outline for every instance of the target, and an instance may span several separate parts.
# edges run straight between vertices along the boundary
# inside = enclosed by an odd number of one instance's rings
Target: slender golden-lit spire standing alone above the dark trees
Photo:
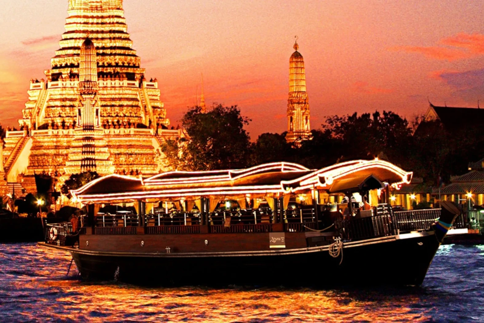
[[[311,139],[309,123],[309,100],[306,92],[304,59],[298,52],[299,45],[289,59],[289,99],[287,101],[287,142],[300,145],[302,140]]]

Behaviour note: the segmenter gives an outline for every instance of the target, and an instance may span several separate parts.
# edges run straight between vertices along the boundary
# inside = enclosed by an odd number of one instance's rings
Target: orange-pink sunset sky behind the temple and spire
[[[3,0],[0,123],[17,125],[30,78],[59,48],[67,0]],[[239,105],[252,139],[287,130],[294,35],[306,66],[311,125],[333,114],[484,99],[484,1],[125,0],[134,48],[157,77],[172,124],[196,104]],[[484,102],[483,102],[484,104]]]

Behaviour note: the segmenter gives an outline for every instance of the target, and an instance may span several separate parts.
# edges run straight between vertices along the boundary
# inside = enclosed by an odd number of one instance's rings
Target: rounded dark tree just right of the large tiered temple
[[[200,107],[188,110],[181,120],[189,140],[168,140],[162,152],[176,169],[237,169],[250,163],[252,144],[237,106],[213,106],[202,113]]]

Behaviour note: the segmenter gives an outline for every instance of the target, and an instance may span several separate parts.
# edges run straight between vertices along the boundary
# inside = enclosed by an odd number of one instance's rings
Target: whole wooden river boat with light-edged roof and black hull
[[[85,279],[420,285],[459,211],[442,202],[393,212],[389,187],[411,177],[378,159],[109,175],[72,192],[88,206],[87,225],[49,225],[41,245],[70,252]],[[106,204],[137,215],[98,215]]]

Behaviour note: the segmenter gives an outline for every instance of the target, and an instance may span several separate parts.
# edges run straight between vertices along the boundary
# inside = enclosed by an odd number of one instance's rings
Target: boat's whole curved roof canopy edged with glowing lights
[[[150,178],[108,175],[73,190],[83,203],[118,203],[136,200],[198,200],[208,198],[274,197],[307,193],[313,189],[329,193],[381,188],[382,183],[410,183],[407,172],[382,160],[354,160],[318,170],[287,162],[258,165],[249,169],[169,171]]]

